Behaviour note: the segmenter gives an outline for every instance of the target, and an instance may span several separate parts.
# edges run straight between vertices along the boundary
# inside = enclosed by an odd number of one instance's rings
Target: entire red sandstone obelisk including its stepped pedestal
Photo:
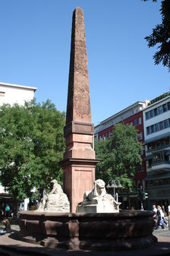
[[[62,161],[64,190],[71,203],[71,212],[75,212],[77,204],[83,201],[83,193],[93,189],[97,162],[91,146],[93,134],[83,10],[76,8],[71,34],[66,150]]]

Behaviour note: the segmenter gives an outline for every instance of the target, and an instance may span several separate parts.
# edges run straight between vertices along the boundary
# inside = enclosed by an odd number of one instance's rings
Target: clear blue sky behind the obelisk
[[[143,38],[161,22],[160,2],[0,0],[0,81],[37,87],[36,101],[66,110],[74,8],[83,8],[92,122],[169,90]]]

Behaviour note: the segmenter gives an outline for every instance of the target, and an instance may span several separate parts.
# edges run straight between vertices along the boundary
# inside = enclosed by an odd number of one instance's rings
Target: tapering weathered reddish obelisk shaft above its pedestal
[[[66,124],[71,121],[91,123],[87,47],[80,8],[75,9],[72,20]]]

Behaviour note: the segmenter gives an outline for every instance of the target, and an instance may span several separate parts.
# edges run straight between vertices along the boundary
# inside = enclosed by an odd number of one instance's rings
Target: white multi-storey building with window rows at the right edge
[[[167,96],[168,94],[168,96]],[[170,94],[159,96],[143,109],[146,182],[152,204],[170,201]]]

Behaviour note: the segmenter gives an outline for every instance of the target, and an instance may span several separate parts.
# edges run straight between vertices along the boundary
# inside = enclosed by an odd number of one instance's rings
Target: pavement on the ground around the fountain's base
[[[2,229],[2,225],[0,225]],[[44,248],[41,245],[30,244],[17,240],[19,226],[11,225],[11,234],[0,236],[0,255],[1,256],[170,256],[170,230],[157,229],[156,235],[158,243],[150,248],[131,251],[66,251],[62,249]]]

